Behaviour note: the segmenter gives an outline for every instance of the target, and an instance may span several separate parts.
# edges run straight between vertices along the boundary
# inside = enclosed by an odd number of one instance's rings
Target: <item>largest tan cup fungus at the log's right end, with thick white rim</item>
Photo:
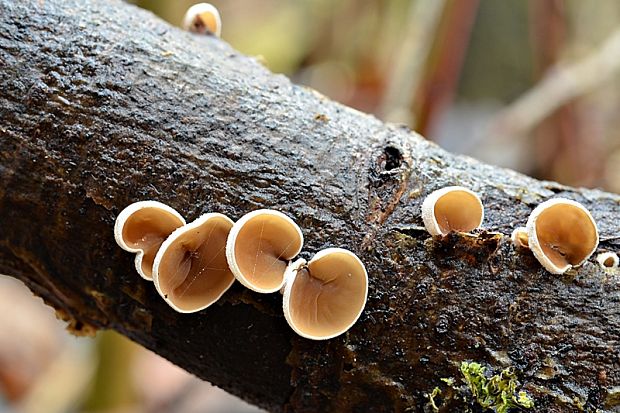
[[[526,228],[530,250],[552,274],[583,264],[598,246],[594,218],[570,199],[554,198],[538,205]]]

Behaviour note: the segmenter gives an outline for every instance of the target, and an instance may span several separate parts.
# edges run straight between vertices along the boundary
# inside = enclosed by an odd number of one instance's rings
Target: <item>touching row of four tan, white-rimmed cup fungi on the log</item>
[[[256,210],[237,222],[208,213],[186,224],[173,208],[140,201],[119,214],[114,236],[136,254],[138,273],[180,313],[209,307],[236,279],[259,293],[280,291],[291,328],[325,340],[355,324],[366,304],[368,274],[361,260],[342,248],[294,260],[303,235],[279,211]]]

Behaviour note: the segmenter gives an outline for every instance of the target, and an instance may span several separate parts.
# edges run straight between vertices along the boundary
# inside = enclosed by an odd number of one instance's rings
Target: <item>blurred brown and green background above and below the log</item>
[[[178,25],[194,2],[136,0]],[[213,0],[274,72],[444,148],[620,192],[620,2]],[[0,277],[0,412],[258,412]]]

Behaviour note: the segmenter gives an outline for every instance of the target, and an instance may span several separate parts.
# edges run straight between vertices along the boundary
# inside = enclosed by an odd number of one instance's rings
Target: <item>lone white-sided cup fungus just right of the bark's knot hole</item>
[[[461,186],[434,191],[422,203],[424,227],[433,236],[469,232],[482,224],[484,207],[480,197]]]

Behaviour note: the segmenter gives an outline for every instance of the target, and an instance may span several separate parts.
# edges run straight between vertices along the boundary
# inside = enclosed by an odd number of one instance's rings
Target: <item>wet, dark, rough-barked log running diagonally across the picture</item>
[[[507,234],[565,196],[618,250],[619,196],[451,155],[117,0],[0,0],[0,86],[0,273],[73,332],[117,330],[271,411],[428,410],[464,360],[513,366],[537,411],[618,409],[618,272],[590,260],[550,275]],[[482,195],[487,232],[421,229],[424,196],[449,184]],[[177,314],[113,239],[119,211],[144,199],[188,220],[284,211],[302,256],[362,258],[366,310],[325,342],[287,327],[278,294],[238,284]],[[461,393],[442,410],[479,409]]]

